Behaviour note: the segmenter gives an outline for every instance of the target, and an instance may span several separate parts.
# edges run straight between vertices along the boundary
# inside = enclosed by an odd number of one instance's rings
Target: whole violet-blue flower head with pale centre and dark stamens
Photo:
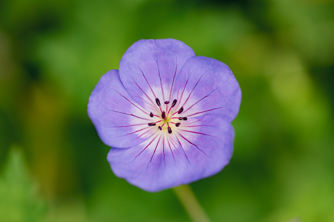
[[[157,192],[214,175],[233,152],[240,87],[222,62],[175,39],[140,40],[88,103],[116,176]]]

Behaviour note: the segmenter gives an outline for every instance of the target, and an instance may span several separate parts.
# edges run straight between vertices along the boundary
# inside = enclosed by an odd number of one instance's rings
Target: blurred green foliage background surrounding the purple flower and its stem
[[[0,221],[190,221],[115,177],[87,116],[140,39],[223,61],[242,90],[231,162],[191,184],[212,221],[334,221],[333,0],[0,1]]]

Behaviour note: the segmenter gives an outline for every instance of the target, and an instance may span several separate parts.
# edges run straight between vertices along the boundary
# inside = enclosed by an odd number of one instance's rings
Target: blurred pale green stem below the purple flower
[[[194,222],[210,222],[210,219],[206,215],[189,185],[174,187],[173,190]]]

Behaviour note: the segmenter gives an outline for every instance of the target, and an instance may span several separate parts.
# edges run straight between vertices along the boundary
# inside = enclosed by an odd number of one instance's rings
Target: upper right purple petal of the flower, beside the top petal
[[[241,90],[231,70],[222,62],[203,56],[186,62],[176,78],[173,99],[183,115],[216,115],[232,121],[239,111]]]

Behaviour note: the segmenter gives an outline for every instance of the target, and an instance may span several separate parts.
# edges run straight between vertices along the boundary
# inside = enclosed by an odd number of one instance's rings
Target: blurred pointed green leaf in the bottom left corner
[[[40,221],[45,209],[21,151],[11,147],[0,177],[0,221]]]

